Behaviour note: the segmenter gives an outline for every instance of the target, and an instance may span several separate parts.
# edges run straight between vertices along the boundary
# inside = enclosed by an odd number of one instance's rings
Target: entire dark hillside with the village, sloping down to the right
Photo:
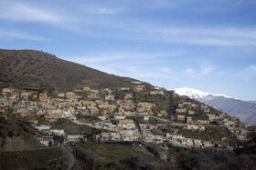
[[[37,152],[29,152],[26,160],[16,152],[37,149],[38,140],[48,148],[69,144],[75,169],[170,169],[184,166],[183,154],[233,150],[253,140],[247,136],[250,125],[163,87],[31,50],[1,50],[0,65],[0,151],[14,151],[8,155],[18,155],[16,162],[29,161],[12,166],[11,160],[8,168],[42,167],[38,162],[67,166],[65,157],[52,160],[48,152],[42,152],[42,161],[34,159]]]

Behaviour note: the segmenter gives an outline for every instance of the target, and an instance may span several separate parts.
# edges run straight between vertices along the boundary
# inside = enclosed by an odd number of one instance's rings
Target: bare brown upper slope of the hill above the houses
[[[0,81],[5,83],[66,92],[80,86],[131,86],[132,80],[108,75],[40,51],[0,49]]]

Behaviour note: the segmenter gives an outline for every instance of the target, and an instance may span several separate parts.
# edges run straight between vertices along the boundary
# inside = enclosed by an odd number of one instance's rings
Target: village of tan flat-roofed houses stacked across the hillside
[[[0,114],[5,119],[10,113],[25,117],[41,136],[44,145],[54,145],[53,135],[63,137],[65,142],[87,141],[85,134],[68,134],[65,129],[53,128],[59,119],[66,119],[76,125],[86,125],[103,130],[93,135],[95,142],[141,142],[170,144],[177,146],[217,147],[233,149],[235,145],[225,145],[226,137],[219,140],[200,138],[208,129],[222,128],[239,141],[246,141],[251,125],[240,123],[221,111],[214,112],[208,105],[184,101],[176,105],[174,113],[159,109],[157,104],[134,100],[134,94],[171,95],[173,91],[161,87],[146,87],[142,82],[133,81],[133,87],[112,89],[83,89],[59,93],[58,97],[48,96],[48,92],[18,89],[9,86],[0,95]],[[123,94],[116,96],[117,93]],[[183,96],[181,96],[183,97]],[[42,124],[38,120],[45,120]],[[82,118],[85,117],[85,118]],[[94,121],[86,121],[94,117]],[[212,130],[208,130],[211,132]],[[196,134],[191,137],[190,134]],[[188,135],[187,135],[188,134]]]

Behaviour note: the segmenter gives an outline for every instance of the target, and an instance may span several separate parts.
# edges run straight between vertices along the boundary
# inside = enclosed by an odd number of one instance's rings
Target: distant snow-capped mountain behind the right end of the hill
[[[175,92],[177,95],[187,95],[190,98],[197,99],[202,103],[222,110],[231,116],[240,118],[240,121],[244,123],[256,125],[255,101],[242,101],[228,95],[214,95],[187,87],[177,88]]]

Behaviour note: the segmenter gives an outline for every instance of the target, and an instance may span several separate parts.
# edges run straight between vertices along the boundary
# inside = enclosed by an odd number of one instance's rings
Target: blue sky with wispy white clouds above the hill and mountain
[[[255,0],[0,0],[0,48],[256,100]]]

